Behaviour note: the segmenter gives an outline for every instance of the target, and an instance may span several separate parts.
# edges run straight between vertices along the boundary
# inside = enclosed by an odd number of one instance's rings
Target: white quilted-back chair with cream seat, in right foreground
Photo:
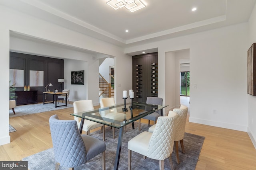
[[[128,170],[132,169],[132,151],[142,154],[144,158],[159,160],[160,170],[164,170],[164,160],[169,158],[173,169],[171,156],[174,146],[176,114],[173,116],[158,117],[153,133],[144,131],[128,141]]]

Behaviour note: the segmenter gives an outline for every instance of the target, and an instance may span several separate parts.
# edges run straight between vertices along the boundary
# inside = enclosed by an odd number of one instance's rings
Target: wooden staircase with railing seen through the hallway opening
[[[99,101],[101,98],[114,98],[114,89],[111,83],[108,83],[105,78],[99,74]]]

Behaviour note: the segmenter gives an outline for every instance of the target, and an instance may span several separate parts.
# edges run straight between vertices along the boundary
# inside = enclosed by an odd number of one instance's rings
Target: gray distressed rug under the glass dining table
[[[135,122],[135,129],[132,129],[132,125],[127,125],[127,132],[123,135],[122,150],[120,155],[119,170],[127,170],[128,168],[128,149],[127,143],[134,136],[138,135],[142,131],[148,131],[148,125],[142,124],[142,130],[138,131],[138,123]],[[106,170],[114,169],[114,162],[116,156],[116,147],[118,141],[119,129],[115,129],[116,138],[112,139],[112,129],[106,127]],[[91,133],[91,136],[102,140],[102,133],[96,131]],[[204,143],[204,138],[202,136],[193,135],[190,133],[185,133],[184,147],[185,154],[182,153],[181,148],[179,148],[180,164],[176,163],[176,154],[172,153],[172,162],[175,170],[194,170],[196,168],[196,163],[202,145]],[[179,144],[180,147],[180,144]],[[54,152],[53,148],[44,150],[42,152],[36,153],[34,155],[23,158],[22,160],[28,161],[28,168],[30,170],[53,170],[55,168]],[[74,170],[96,170],[102,169],[102,159],[101,154],[92,158],[86,164],[81,165]],[[159,161],[150,158],[143,159],[143,156],[132,152],[132,170],[158,170]],[[164,169],[170,170],[169,160],[164,161]],[[67,168],[60,167],[60,170],[67,170]]]

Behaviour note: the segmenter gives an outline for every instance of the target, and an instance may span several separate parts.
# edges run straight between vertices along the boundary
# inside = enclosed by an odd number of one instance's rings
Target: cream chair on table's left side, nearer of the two
[[[80,100],[73,103],[74,106],[74,113],[82,112],[82,111],[88,111],[94,109],[92,100]],[[79,117],[74,116],[74,119],[76,120],[78,124],[78,128],[80,127],[81,120],[79,120]],[[86,120],[84,119],[84,126],[83,131],[86,131],[87,135],[90,135],[90,130],[95,129],[97,127],[101,127],[102,133],[103,133],[103,141],[105,141],[105,125],[102,125],[100,123]]]

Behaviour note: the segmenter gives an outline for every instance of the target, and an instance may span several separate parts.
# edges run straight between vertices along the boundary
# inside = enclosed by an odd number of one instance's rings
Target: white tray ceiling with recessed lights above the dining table
[[[0,4],[129,47],[248,21],[256,0],[141,0],[136,12],[109,0],[0,0]],[[192,8],[197,10],[192,12]],[[129,32],[125,32],[128,29]]]

